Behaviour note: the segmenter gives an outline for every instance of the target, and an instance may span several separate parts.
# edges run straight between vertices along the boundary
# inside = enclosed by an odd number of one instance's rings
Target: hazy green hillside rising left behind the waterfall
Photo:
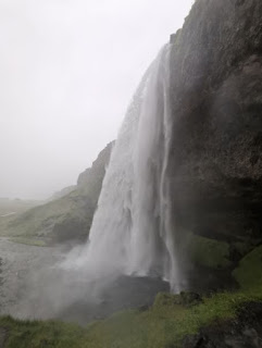
[[[98,156],[90,169],[78,177],[75,187],[60,191],[59,198],[27,210],[1,227],[0,234],[8,236],[47,237],[60,243],[70,239],[86,239],[91,226],[102,187],[105,167],[109,163],[113,142]],[[68,190],[66,194],[65,191]],[[54,196],[55,197],[55,196]]]

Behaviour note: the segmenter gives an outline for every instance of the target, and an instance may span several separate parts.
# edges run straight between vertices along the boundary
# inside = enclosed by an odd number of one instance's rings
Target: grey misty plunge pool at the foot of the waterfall
[[[68,249],[35,247],[0,238],[0,314],[62,319],[80,324],[123,309],[146,309],[169,284],[160,278],[121,276],[101,286],[58,264]],[[98,290],[99,289],[99,290]]]

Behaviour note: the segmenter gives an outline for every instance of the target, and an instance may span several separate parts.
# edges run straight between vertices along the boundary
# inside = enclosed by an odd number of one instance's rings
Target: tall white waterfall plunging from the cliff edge
[[[135,92],[105,173],[89,241],[75,268],[102,278],[152,275],[178,282],[166,175],[170,140],[170,45]]]

